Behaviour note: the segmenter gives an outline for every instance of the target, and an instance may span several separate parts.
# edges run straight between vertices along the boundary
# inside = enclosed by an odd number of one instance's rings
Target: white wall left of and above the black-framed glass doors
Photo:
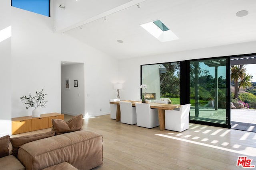
[[[140,65],[184,61],[209,57],[221,57],[256,53],[256,41],[239,43],[220,47],[181,51],[141,58],[124,59],[118,61],[118,79],[123,82],[122,99],[138,100],[140,98]]]

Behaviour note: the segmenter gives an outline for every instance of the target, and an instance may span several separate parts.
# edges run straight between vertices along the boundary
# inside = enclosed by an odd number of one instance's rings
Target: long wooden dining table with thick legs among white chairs
[[[122,102],[131,102],[132,106],[135,107],[136,103],[141,103],[139,101],[132,100],[122,100]],[[121,111],[119,101],[117,102],[109,102],[110,104],[116,104],[116,121],[120,121],[121,119]],[[151,109],[157,109],[158,119],[159,119],[159,129],[160,131],[165,130],[165,110],[173,110],[175,108],[180,107],[178,104],[160,104],[160,103],[149,103]]]

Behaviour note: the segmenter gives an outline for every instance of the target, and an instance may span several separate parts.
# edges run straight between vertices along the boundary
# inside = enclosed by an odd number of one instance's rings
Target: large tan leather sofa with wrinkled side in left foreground
[[[1,159],[10,160],[10,155]],[[75,131],[21,145],[18,149],[18,160],[23,165],[13,167],[13,160],[3,169],[26,170],[90,170],[103,164],[102,135],[93,131]],[[2,160],[2,162],[6,162]]]

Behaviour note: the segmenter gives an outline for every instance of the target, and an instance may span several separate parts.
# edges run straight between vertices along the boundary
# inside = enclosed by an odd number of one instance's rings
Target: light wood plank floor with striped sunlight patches
[[[64,115],[64,120],[71,118]],[[26,135],[49,131],[44,129]],[[256,133],[198,125],[182,133],[127,125],[110,115],[84,119],[83,130],[103,135],[102,166],[94,170],[236,170],[238,156],[256,165]]]

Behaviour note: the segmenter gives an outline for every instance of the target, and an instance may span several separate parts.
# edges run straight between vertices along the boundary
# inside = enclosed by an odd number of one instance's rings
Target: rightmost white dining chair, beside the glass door
[[[179,110],[165,110],[165,129],[178,132],[188,129],[190,106],[191,104],[185,104]]]

